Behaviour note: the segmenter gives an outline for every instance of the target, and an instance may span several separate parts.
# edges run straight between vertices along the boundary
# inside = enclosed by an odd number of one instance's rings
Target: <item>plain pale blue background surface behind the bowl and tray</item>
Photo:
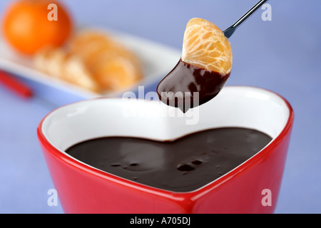
[[[1,0],[0,15],[8,2]],[[76,24],[113,28],[180,50],[190,18],[208,19],[224,30],[256,0],[64,2]],[[321,1],[268,3],[272,21],[263,21],[260,9],[230,38],[233,71],[228,85],[267,88],[289,100],[295,123],[275,213],[320,213]],[[82,98],[27,83],[56,105],[44,105],[36,98],[22,100],[0,86],[0,212],[63,213],[60,204],[47,204],[47,192],[54,185],[36,128],[56,106]]]

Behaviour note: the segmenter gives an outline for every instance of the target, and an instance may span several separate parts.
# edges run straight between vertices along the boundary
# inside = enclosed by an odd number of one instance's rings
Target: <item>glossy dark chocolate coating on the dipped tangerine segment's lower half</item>
[[[230,73],[223,76],[180,59],[158,84],[158,97],[163,103],[180,108],[185,113],[189,108],[202,105],[218,95],[229,76]]]

